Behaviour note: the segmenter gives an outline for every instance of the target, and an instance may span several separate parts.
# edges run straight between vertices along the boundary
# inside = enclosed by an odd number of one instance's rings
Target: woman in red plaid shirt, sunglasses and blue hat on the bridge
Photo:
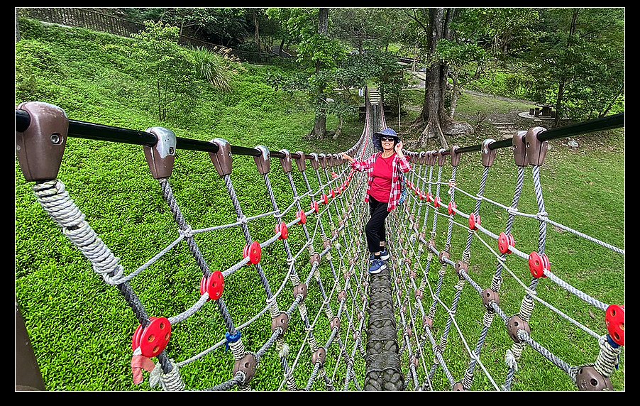
[[[360,161],[346,153],[342,157],[351,162],[351,168],[368,173],[365,202],[369,202],[371,217],[365,227],[369,249],[369,273],[376,274],[387,268],[385,260],[390,258],[386,246],[385,220],[398,205],[402,184],[400,172],[409,172],[411,164],[402,153],[402,141],[395,131],[386,128],[373,133],[373,145],[380,152]]]

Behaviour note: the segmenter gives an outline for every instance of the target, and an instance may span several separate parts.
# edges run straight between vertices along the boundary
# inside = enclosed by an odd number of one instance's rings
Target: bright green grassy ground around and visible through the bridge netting
[[[181,125],[158,123],[146,90],[150,84],[136,70],[136,62],[131,62],[138,59],[131,54],[133,51],[127,40],[115,40],[111,35],[75,29],[47,28],[38,32],[35,30],[30,36],[29,31],[25,30],[23,40],[16,45],[18,61],[23,58],[33,62],[29,64],[30,71],[16,72],[16,87],[29,89],[28,92],[18,92],[16,104],[26,100],[47,101],[62,107],[70,119],[79,121],[136,129],[167,126],[177,136],[202,140],[221,137],[234,145],[262,144],[271,150],[344,150],[353,144],[361,131],[361,124],[354,121],[348,123],[345,131],[351,136],[339,141],[309,143],[303,134],[312,126],[312,112],[304,109],[304,104],[295,96],[287,97],[263,84],[262,75],[267,68],[251,66],[247,66],[248,72],[236,77],[234,92],[230,95],[203,87],[202,95],[193,103],[194,111],[186,124],[184,121],[181,121]],[[464,103],[468,103],[468,106]],[[460,104],[460,111],[464,110],[473,114],[479,108],[473,105],[473,99],[467,99]],[[335,122],[330,120],[328,125],[332,128]],[[282,128],[286,128],[286,131],[282,131]],[[490,128],[485,130],[483,136],[492,136],[487,133],[491,131]],[[586,146],[599,143],[595,137],[585,139]],[[453,140],[453,143],[466,146],[475,141],[465,138]],[[605,154],[597,153],[602,148],[580,148],[579,152],[574,152],[561,146],[560,141],[552,142],[553,148],[542,170],[546,209],[551,219],[624,248],[624,160],[621,159],[624,156],[624,137],[614,133],[603,145],[609,146]],[[233,182],[245,215],[269,211],[264,180],[255,171],[253,160],[241,156],[235,158]],[[475,193],[481,175],[479,159],[478,155],[464,157],[458,170],[460,187],[471,193]],[[176,162],[172,187],[189,224],[197,229],[233,221],[233,206],[224,182],[214,171],[209,157],[204,153],[179,151]],[[496,162],[485,195],[509,204],[515,172],[508,151],[501,150]],[[279,168],[277,164],[274,167]],[[450,168],[445,170],[446,176],[447,170]],[[70,138],[59,177],[87,216],[89,224],[111,251],[121,258],[126,273],[131,273],[177,238],[172,216],[162,201],[158,182],[148,174],[141,147]],[[277,170],[272,172],[271,178],[278,204],[281,208],[286,207],[291,202],[291,190],[286,178]],[[299,175],[294,179],[298,190],[306,190]],[[309,180],[312,185],[317,184],[313,176]],[[524,212],[536,212],[530,170],[527,171],[525,190],[527,192],[522,197],[521,209]],[[558,194],[563,199],[556,198]],[[465,202],[463,197],[459,197],[458,202],[465,212],[473,207],[473,202]],[[304,204],[308,205],[308,200]],[[485,207],[483,205],[483,209]],[[491,212],[495,216],[488,216],[481,211],[485,215],[483,225],[499,233],[506,221],[506,214],[494,208],[491,208]],[[287,221],[291,219],[287,218]],[[269,224],[267,221],[252,223],[252,236],[264,241],[272,235]],[[518,219],[514,229],[518,230],[519,235],[531,237],[526,241],[516,236],[519,248],[525,252],[527,249],[533,251],[537,242],[536,222]],[[446,232],[446,229],[442,232]],[[299,229],[292,231],[292,234],[291,241],[300,241],[302,234]],[[454,245],[452,253],[457,253],[459,257],[466,234],[458,231],[454,235],[457,245]],[[197,241],[211,268],[223,270],[238,260],[244,240],[238,229],[232,229],[201,234]],[[286,273],[286,267],[276,259],[285,258],[284,250],[275,244],[266,251],[265,258],[272,260],[265,261],[265,274],[270,282],[279,282]],[[472,252],[473,261],[495,264],[495,260],[477,241]],[[621,263],[619,256],[568,233],[552,230],[549,230],[547,252],[553,269],[557,269],[556,274],[563,280],[584,287],[585,292],[603,302],[624,303],[624,262]],[[519,277],[528,280],[528,270],[522,260],[509,260],[509,263],[519,264]],[[490,271],[480,271],[478,268],[480,285],[487,285],[492,267],[495,268],[495,265],[489,265]],[[563,269],[580,272],[563,273]],[[151,315],[173,315],[194,302],[200,272],[187,248],[181,245],[152,269],[140,274],[132,285]],[[299,270],[301,275],[307,275],[307,272],[305,268]],[[233,278],[225,291],[226,303],[238,324],[254,314],[248,303],[264,302],[264,290],[260,287],[257,275],[243,275],[246,276]],[[437,273],[432,272],[431,277],[434,275]],[[475,278],[476,274],[473,276]],[[448,285],[453,285],[451,279]],[[573,300],[566,292],[551,284],[543,285],[539,291],[549,295],[544,297],[545,300],[553,304],[566,302],[572,317],[602,332],[602,315],[599,312],[592,319],[588,313],[585,314],[583,302]],[[522,288],[505,276],[502,292],[507,313],[517,312],[522,300]],[[468,317],[480,320],[478,312],[481,313],[482,309],[475,302],[477,298],[469,289],[464,294],[466,300],[463,302],[467,305],[460,307],[461,319],[468,312]],[[118,291],[106,285],[92,271],[84,256],[35,202],[31,185],[24,182],[17,160],[16,295],[49,390],[148,388],[146,384],[136,387],[131,383],[128,360],[131,344],[128,343],[128,337],[137,326],[133,312]],[[319,300],[317,292],[314,295],[307,302]],[[285,293],[282,303],[289,303],[291,299],[292,294]],[[447,301],[450,302],[450,299]],[[590,356],[594,349],[591,342],[585,341],[584,345],[578,346],[566,345],[569,339],[584,339],[584,334],[569,338],[564,329],[554,333],[556,329],[551,327],[555,319],[546,315],[548,312],[538,312],[539,309],[541,307],[536,307],[534,311],[532,325],[536,326],[536,331],[549,327],[548,335],[554,352],[561,358],[567,358],[572,365],[592,361]],[[442,314],[439,313],[440,316]],[[444,319],[438,319],[437,322],[436,325],[441,328],[446,324]],[[177,327],[170,353],[182,361],[182,357],[208,348],[224,337],[223,326],[217,309],[207,307],[202,317],[192,317]],[[289,333],[291,341],[288,341],[292,349],[297,349],[296,344],[299,346],[301,328],[299,320],[292,324]],[[465,328],[469,334],[465,338],[472,341],[472,345],[475,344],[475,336],[479,331],[477,324]],[[323,335],[326,330],[323,324],[316,328],[319,342],[326,340]],[[256,348],[265,341],[269,331],[267,322],[253,324],[243,332],[245,345],[250,349]],[[490,336],[483,354],[488,353],[488,358],[500,360],[504,356],[504,349],[509,346],[508,339],[505,340],[504,331],[497,328],[492,331],[495,334]],[[575,334],[574,329],[566,331]],[[456,351],[456,347],[460,347],[459,340],[454,336],[450,339],[448,351]],[[454,344],[456,341],[457,344]],[[496,356],[491,356],[487,350],[491,348],[495,349]],[[273,383],[266,382],[265,377],[282,373],[272,352],[260,364],[261,372],[253,381],[258,390],[272,389]],[[541,361],[541,357],[531,352],[525,352],[522,373],[515,389],[572,390],[563,373],[555,371],[557,368],[548,368],[547,361]],[[227,353],[225,356],[207,357],[202,363],[190,364],[182,371],[187,388],[209,388],[212,382],[229,378],[231,363],[231,354]],[[452,369],[456,372],[454,375],[461,376],[465,364],[466,361],[460,361],[460,366],[453,367],[452,362]],[[502,363],[498,364],[496,374],[500,376],[500,381],[504,368],[500,368]],[[298,383],[304,386],[304,379],[309,376],[309,366],[301,365],[299,368],[302,371]],[[358,368],[362,368],[362,365]],[[541,379],[540,374],[548,375],[548,379]],[[624,388],[623,379],[622,374],[614,375],[616,388]],[[561,388],[550,383],[554,381],[561,382]],[[477,385],[477,389],[488,388],[480,378]]]

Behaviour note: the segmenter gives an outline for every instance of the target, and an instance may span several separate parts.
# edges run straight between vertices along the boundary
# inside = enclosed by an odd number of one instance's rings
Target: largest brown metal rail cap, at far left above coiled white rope
[[[21,103],[18,109],[31,116],[28,128],[23,133],[16,131],[16,155],[25,179],[57,178],[69,131],[65,111],[40,101]]]

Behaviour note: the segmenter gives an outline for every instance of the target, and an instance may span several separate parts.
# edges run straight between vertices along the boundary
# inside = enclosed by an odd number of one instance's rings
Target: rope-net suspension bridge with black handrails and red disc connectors
[[[365,105],[363,133],[345,151],[359,159],[374,152],[371,135],[387,128],[380,100],[365,93]],[[167,128],[133,131],[101,126],[69,120],[59,107],[41,102],[16,108],[16,153],[24,177],[35,182],[33,192],[41,207],[135,314],[139,324],[131,326],[129,338],[131,379],[138,385],[167,391],[252,390],[252,383],[260,380],[268,390],[278,391],[512,390],[519,372],[527,368],[525,361],[535,355],[547,361],[544,365],[563,371],[576,390],[616,390],[610,377],[619,370],[624,346],[624,304],[602,302],[563,280],[560,271],[556,275],[553,256],[565,253],[546,250],[547,228],[590,241],[622,261],[624,249],[553,221],[545,209],[540,172],[549,140],[623,125],[624,115],[618,115],[553,130],[533,127],[502,141],[487,139],[480,146],[407,150],[412,163],[407,173],[409,198],[387,219],[392,258],[377,275],[368,274],[363,233],[368,219],[362,204],[366,176],[354,172],[339,153],[271,151],[265,146],[232,146],[222,138],[211,142],[179,138]],[[58,179],[68,137],[143,146],[150,173],[175,221],[176,237],[138,268],[126,269],[120,263]],[[485,197],[499,148],[512,148],[516,164],[511,204]],[[180,165],[176,158],[180,149],[209,154],[233,207],[233,221],[202,229],[190,225],[193,219],[181,211],[170,182],[174,166]],[[456,180],[460,156],[473,152],[480,153],[483,167],[477,191],[464,190]],[[233,180],[236,155],[255,160],[268,197],[265,212],[245,214]],[[274,158],[280,168],[272,165]],[[529,168],[538,210],[526,213],[518,207]],[[274,170],[282,170],[288,185],[274,187]],[[283,207],[279,202],[285,199],[285,189],[289,203]],[[463,204],[467,201],[470,204]],[[504,211],[506,224],[485,215],[492,212],[487,205]],[[535,221],[538,235],[519,235],[519,217]],[[272,229],[265,241],[255,239],[252,225],[259,222]],[[243,250],[226,251],[235,263],[216,270],[198,241],[229,229],[240,231]],[[537,238],[536,250],[520,251],[521,238]],[[152,273],[156,263],[185,244],[202,272],[193,284],[199,284],[199,292],[177,314],[153,314],[150,309],[158,307],[140,300],[134,280]],[[267,254],[275,246],[284,249],[286,258]],[[458,251],[458,246],[463,249]],[[476,263],[471,254],[478,247],[493,260]],[[283,261],[285,272],[271,274],[272,263]],[[474,267],[482,268],[490,280],[480,282]],[[249,278],[248,274],[259,280],[253,290],[260,292],[264,304],[251,303],[253,315],[238,319],[230,303],[241,302],[228,292],[234,280]],[[501,291],[505,275],[513,282],[508,292]],[[541,286],[548,284],[601,314],[597,329],[539,297]],[[457,317],[465,306],[475,309],[478,318]],[[597,351],[583,351],[581,359],[556,355],[557,349],[545,344],[544,329],[532,323],[540,312],[551,312],[587,334]],[[209,327],[211,342],[199,353],[179,353],[180,346],[172,344],[187,334],[181,324],[198,318],[208,326],[219,320]],[[257,329],[263,332],[259,339],[252,336]],[[261,368],[261,361],[270,357],[277,358],[279,370]],[[228,371],[226,378],[206,388],[189,388],[184,374],[189,368],[199,371],[197,363],[211,358]]]

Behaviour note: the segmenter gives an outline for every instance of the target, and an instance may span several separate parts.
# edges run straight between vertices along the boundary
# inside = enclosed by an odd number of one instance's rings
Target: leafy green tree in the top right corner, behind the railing
[[[566,116],[604,116],[622,104],[624,9],[543,9],[536,28],[529,69],[539,101],[556,108],[554,125]]]

